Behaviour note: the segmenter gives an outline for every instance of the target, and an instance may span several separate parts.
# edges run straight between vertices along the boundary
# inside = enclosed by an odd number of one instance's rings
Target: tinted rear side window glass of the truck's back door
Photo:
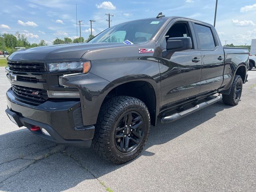
[[[195,32],[198,35],[198,48],[199,49],[214,49],[216,47],[212,30],[210,27],[195,24]]]

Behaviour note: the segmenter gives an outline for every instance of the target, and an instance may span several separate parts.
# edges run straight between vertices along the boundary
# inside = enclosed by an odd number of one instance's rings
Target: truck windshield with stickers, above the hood
[[[118,24],[98,34],[90,43],[116,43],[129,40],[137,44],[150,40],[162,26],[163,20],[148,19]]]

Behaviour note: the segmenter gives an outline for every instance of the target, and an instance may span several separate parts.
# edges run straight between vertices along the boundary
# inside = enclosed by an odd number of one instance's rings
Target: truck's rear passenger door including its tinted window
[[[202,55],[200,94],[217,90],[223,82],[224,50],[216,30],[201,22],[192,22],[198,49]]]

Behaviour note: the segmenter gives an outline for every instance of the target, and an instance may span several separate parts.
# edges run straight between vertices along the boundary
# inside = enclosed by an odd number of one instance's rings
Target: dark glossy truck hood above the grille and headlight
[[[18,62],[66,62],[79,61],[89,50],[129,46],[123,43],[81,43],[40,46],[16,51],[8,57],[8,61]]]

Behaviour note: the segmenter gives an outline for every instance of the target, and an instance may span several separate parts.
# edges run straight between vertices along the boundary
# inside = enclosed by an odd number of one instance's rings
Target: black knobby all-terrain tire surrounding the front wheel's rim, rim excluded
[[[137,144],[132,151],[122,152],[120,151],[120,148],[118,149],[116,144],[116,130],[118,130],[118,122],[122,122],[122,118],[124,118],[126,114],[132,112],[140,114],[141,120],[144,121],[142,124],[144,131],[141,136],[140,143]],[[133,126],[131,126],[131,128],[132,127]],[[98,115],[97,124],[95,126],[92,146],[100,157],[115,164],[123,164],[138,156],[138,154],[142,151],[142,148],[145,146],[146,141],[148,140],[149,128],[150,115],[148,108],[141,100],[130,96],[116,96],[102,104],[100,113]],[[122,132],[124,131],[121,131],[121,133]],[[126,135],[126,139],[127,138],[128,135]]]

